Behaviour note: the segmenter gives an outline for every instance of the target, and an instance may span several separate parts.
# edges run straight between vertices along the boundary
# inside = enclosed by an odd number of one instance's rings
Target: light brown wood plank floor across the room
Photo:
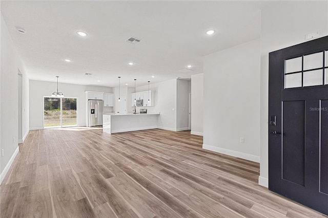
[[[189,131],[32,130],[1,187],[1,217],[327,217],[257,185],[259,164]]]

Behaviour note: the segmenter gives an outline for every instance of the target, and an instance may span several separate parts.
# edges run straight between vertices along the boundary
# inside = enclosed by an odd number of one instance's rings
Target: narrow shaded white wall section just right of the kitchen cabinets
[[[177,79],[176,80],[176,89],[177,89],[177,98],[176,98],[176,128],[177,131],[188,130],[188,98],[189,98],[189,84],[190,81]]]

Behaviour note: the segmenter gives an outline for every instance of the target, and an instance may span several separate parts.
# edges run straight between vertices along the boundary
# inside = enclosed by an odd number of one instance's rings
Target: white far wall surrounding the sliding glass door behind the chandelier
[[[59,92],[63,92],[65,97],[77,98],[77,122],[79,126],[85,126],[87,124],[87,96],[85,91],[112,93],[112,88],[108,87],[67,83],[59,83],[58,90]],[[51,96],[54,91],[56,91],[56,82],[30,80],[30,129],[43,128],[43,97]]]

